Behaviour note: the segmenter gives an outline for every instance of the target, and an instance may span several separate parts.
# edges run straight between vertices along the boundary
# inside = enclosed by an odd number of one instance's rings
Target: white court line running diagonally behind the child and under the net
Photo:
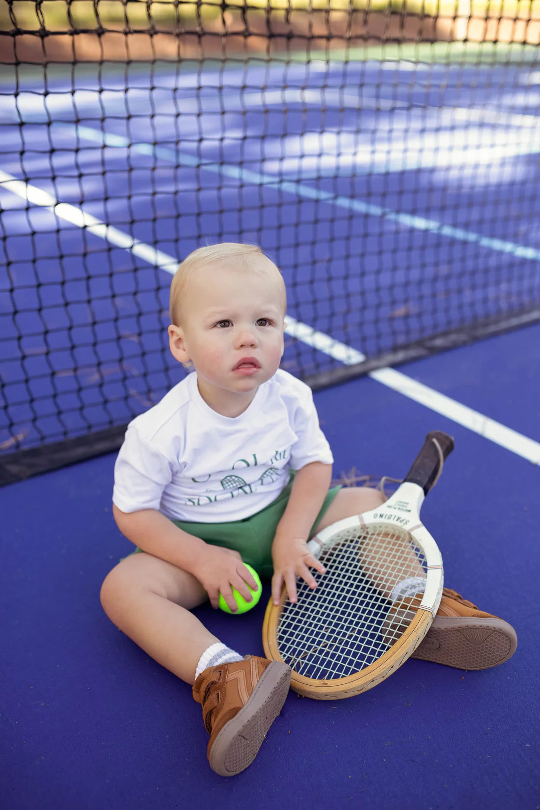
[[[176,271],[178,261],[172,256],[168,256],[168,254],[152,248],[151,245],[146,245],[144,242],[130,237],[128,234],[119,231],[118,228],[106,225],[80,208],[66,203],[57,203],[57,200],[50,194],[38,189],[35,185],[17,180],[1,170],[0,185],[3,185],[12,194],[16,194],[28,203],[48,208],[63,220],[78,225],[79,228],[86,228],[97,237],[127,250],[130,254],[142,258],[143,261],[161,268],[170,275],[173,275]],[[287,315],[286,318],[285,331],[287,335],[295,337],[308,346],[317,348],[319,352],[323,352],[345,365],[353,365],[366,359],[362,352],[334,340],[330,335],[325,335],[324,332],[315,330],[312,326],[296,321],[290,315]],[[506,425],[490,419],[489,416],[484,416],[482,413],[458,403],[455,399],[450,399],[450,397],[424,386],[421,382],[407,377],[406,374],[396,371],[396,369],[377,369],[372,371],[369,377],[372,377],[376,382],[381,382],[383,386],[387,386],[394,391],[398,391],[399,394],[413,399],[424,407],[446,416],[449,420],[461,424],[473,433],[478,433],[480,436],[489,439],[489,441],[510,450],[512,453],[521,456],[521,458],[540,465],[540,443],[538,441],[529,439],[512,430],[512,428],[507,428]]]

